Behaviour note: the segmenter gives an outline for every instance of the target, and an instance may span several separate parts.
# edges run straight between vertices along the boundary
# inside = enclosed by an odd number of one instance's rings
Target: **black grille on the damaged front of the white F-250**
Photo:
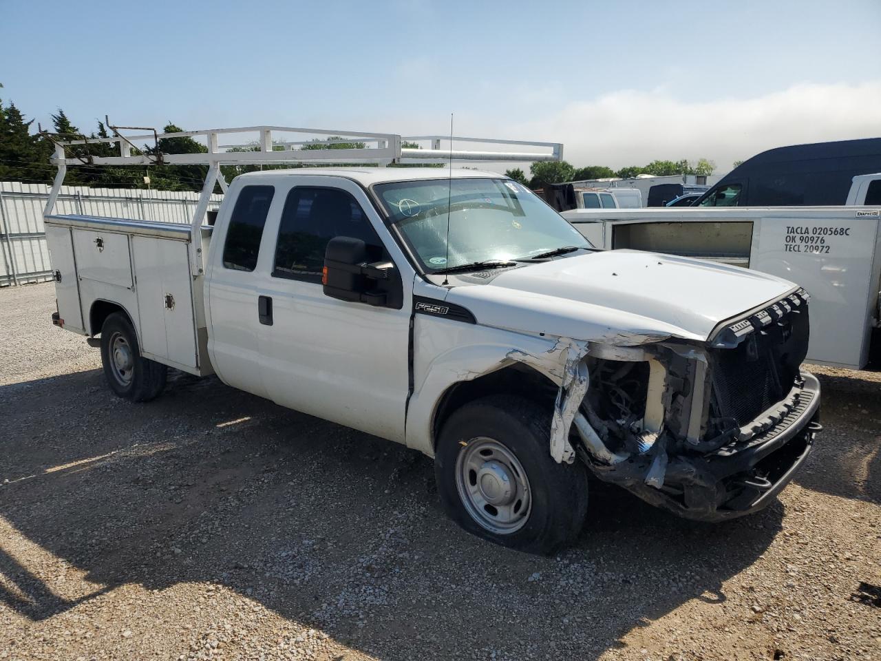
[[[807,353],[807,307],[803,302],[773,320],[754,322],[736,347],[711,350],[712,415],[745,427],[788,395]]]

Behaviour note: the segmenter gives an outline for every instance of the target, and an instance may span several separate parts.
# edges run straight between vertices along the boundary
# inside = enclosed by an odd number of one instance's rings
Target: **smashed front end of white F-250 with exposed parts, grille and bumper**
[[[819,382],[799,369],[807,301],[799,290],[717,329],[706,345],[589,343],[573,352],[552,454],[562,436],[599,479],[687,518],[765,507],[822,428]]]

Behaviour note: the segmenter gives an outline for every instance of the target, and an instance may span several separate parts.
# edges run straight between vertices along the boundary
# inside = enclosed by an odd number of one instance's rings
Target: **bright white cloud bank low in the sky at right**
[[[548,108],[529,122],[496,124],[492,135],[563,142],[564,157],[576,166],[706,157],[725,172],[733,160],[776,146],[879,137],[879,108],[881,80],[795,85],[713,101],[679,100],[669,90],[622,90]]]

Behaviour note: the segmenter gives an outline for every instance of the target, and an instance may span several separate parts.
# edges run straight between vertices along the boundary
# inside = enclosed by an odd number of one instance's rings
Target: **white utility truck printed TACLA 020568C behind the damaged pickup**
[[[861,369],[881,319],[881,174],[843,206],[690,206],[562,214],[597,248],[652,250],[793,280],[811,293],[814,363]]]

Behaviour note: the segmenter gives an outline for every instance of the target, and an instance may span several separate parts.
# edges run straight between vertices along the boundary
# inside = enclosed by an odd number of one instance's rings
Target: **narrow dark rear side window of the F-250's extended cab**
[[[256,268],[263,226],[274,194],[273,186],[245,186],[239,192],[223,247],[223,265],[227,269],[254,271]]]

